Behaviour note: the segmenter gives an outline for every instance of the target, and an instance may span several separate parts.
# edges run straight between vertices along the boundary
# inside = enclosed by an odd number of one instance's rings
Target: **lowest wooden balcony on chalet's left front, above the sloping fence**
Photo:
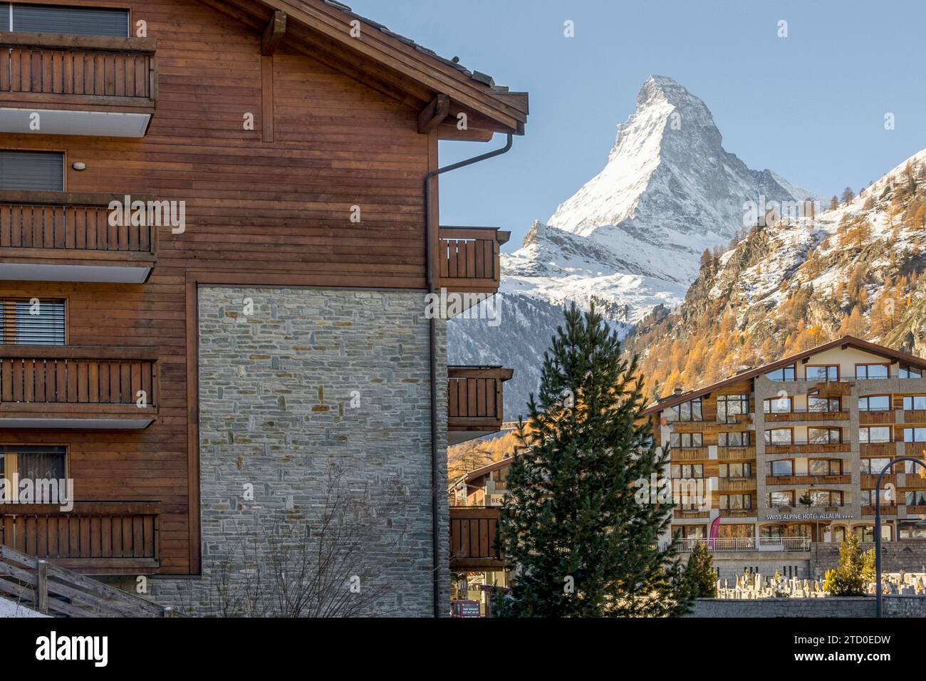
[[[0,505],[0,546],[83,574],[136,574],[158,567],[160,509],[149,502]]]

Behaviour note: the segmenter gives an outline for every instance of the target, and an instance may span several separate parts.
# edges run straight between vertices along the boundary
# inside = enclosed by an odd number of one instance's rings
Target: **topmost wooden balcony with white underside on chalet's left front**
[[[0,47],[0,132],[144,137],[157,102],[153,39],[4,32]]]

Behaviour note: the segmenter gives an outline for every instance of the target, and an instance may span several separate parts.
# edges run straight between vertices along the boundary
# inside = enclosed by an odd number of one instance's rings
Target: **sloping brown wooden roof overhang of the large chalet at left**
[[[199,0],[263,33],[282,12],[282,42],[316,57],[408,107],[423,111],[438,96],[448,97],[453,124],[437,132],[444,138],[488,139],[492,132],[524,132],[527,93],[510,92],[494,79],[390,31],[337,0]],[[361,23],[360,37],[351,24]],[[433,106],[433,105],[432,105]],[[471,132],[454,132],[456,113],[466,112]],[[469,136],[468,136],[469,135]]]

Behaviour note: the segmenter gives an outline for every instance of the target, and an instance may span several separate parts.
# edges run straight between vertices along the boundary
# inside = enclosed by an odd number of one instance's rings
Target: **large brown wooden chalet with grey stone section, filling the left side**
[[[439,224],[438,142],[504,153],[527,95],[333,0],[0,30],[0,477],[73,481],[69,511],[4,499],[0,544],[215,612],[237,533],[298,523],[336,461],[411,509],[376,612],[444,614],[448,437],[501,426],[510,372],[448,370],[425,313],[494,293],[507,240]]]

